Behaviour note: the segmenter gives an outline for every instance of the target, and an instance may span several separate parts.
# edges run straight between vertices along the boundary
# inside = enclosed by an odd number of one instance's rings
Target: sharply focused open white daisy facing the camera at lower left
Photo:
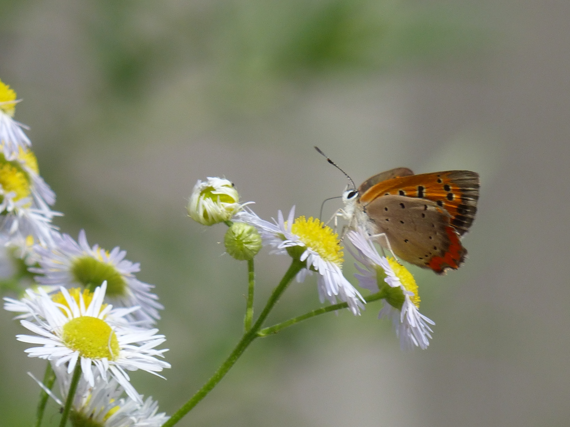
[[[125,315],[139,307],[113,309],[112,305],[103,304],[106,290],[107,282],[103,282],[93,293],[88,290],[82,293],[79,288],[67,291],[63,286],[52,298],[41,288],[37,294],[28,293],[31,300],[28,310],[33,311],[33,321],[20,323],[36,335],[16,338],[42,344],[25,350],[28,357],[52,360],[55,366],[67,364],[68,373],[80,363],[83,377],[91,387],[95,386],[92,365],[105,380],[110,373],[131,399],[142,403],[125,369],[143,369],[162,377],[156,372],[169,368],[170,364],[156,357],[163,357],[168,350],[154,350],[154,347],[165,342],[165,338],[155,335],[158,329],[141,330],[129,325]],[[9,298],[6,301],[13,303]],[[22,303],[28,303],[26,298]]]

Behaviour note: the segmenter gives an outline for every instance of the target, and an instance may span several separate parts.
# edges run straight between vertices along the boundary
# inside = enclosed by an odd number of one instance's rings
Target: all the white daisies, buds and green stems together
[[[62,427],[68,421],[72,427],[172,427],[254,339],[330,311],[346,308],[357,316],[378,299],[384,302],[378,317],[392,320],[402,348],[429,346],[434,323],[419,311],[414,277],[395,257],[381,256],[374,236],[360,225],[351,224],[353,229],[343,230],[340,238],[320,219],[295,216],[295,206],[287,217],[278,211],[277,219],[267,221],[248,206],[253,202],[240,202],[230,180],[209,177],[198,180],[186,209],[200,224],[225,223],[227,254],[247,261],[245,332],[186,404],[172,417],[158,413],[156,401],[137,392],[130,375],[145,371],[162,377],[170,368],[164,360],[168,349],[162,348],[165,336],[156,327],[164,307],[154,286],[136,277],[140,264],[127,260],[124,250],[90,245],[84,230],[75,240],[52,225],[62,214],[51,210],[55,194],[39,174],[26,126],[13,118],[18,102],[13,89],[0,81],[0,291],[17,295],[3,298],[4,308],[25,329],[16,335],[29,344],[25,354],[46,361],[43,381],[29,373],[42,389],[37,426],[50,396],[63,407]],[[358,285],[372,293],[367,297],[344,275],[345,244],[357,261]],[[292,262],[254,319],[254,257],[263,247]],[[328,306],[263,327],[290,282],[303,283],[309,276],[316,276],[316,293]]]

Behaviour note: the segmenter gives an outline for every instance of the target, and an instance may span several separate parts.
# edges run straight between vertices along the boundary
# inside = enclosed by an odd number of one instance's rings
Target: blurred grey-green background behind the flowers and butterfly
[[[396,166],[481,173],[470,257],[412,269],[425,351],[402,352],[378,303],[259,339],[181,426],[562,426],[570,409],[570,3],[388,0],[8,0],[0,78],[58,195],[63,232],[127,249],[156,284],[173,368],[132,375],[171,414],[239,339],[246,265],[225,225],[186,217],[226,176],[260,216],[318,215],[345,179]],[[335,209],[327,206],[327,215]],[[286,269],[257,258],[257,302]],[[347,257],[347,277],[353,273]],[[319,306],[292,284],[271,320]],[[38,387],[0,314],[0,426]],[[269,323],[272,323],[271,321]],[[51,403],[46,425],[59,421]],[[51,423],[51,424],[50,424]]]

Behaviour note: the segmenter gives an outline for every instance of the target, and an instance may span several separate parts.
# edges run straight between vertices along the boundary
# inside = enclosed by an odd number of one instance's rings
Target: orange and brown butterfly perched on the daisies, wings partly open
[[[358,188],[348,178],[353,188],[344,191],[344,209],[336,213],[349,221],[348,228],[364,228],[397,257],[438,274],[463,264],[467,249],[461,237],[477,213],[479,174],[452,170],[414,175],[397,167]]]

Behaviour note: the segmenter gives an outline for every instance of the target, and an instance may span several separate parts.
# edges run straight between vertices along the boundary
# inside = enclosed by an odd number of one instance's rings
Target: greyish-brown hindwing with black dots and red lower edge
[[[467,250],[450,224],[451,216],[436,202],[387,195],[361,207],[402,260],[440,274],[465,260]]]

